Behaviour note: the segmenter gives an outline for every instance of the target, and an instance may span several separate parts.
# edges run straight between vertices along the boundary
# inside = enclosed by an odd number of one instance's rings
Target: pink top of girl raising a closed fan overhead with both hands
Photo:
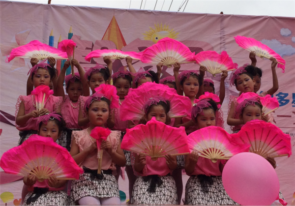
[[[69,96],[64,95],[64,99],[60,107],[62,118],[65,121],[67,128],[80,129],[81,127],[78,125],[79,104],[78,102],[72,102],[72,106],[70,101]]]

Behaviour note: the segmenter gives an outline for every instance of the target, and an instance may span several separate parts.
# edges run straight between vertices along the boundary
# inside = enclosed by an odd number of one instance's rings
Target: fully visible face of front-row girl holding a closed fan
[[[109,105],[105,101],[94,101],[88,110],[90,124],[103,127],[109,118]]]

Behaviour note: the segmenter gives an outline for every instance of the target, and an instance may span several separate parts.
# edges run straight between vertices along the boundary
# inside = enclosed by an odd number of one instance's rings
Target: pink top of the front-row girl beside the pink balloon
[[[194,172],[187,175],[221,176],[222,173],[219,170],[220,162],[221,160],[217,160],[216,163],[213,163],[210,159],[199,157]]]

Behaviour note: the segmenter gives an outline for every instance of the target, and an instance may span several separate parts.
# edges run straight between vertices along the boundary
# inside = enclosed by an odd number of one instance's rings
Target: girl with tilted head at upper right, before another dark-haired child
[[[253,92],[255,80],[252,74],[247,72],[244,67],[240,67],[234,72],[230,84],[235,85],[236,90],[240,93]],[[234,126],[232,128],[234,133],[237,133],[243,124],[243,121],[235,113],[237,105],[236,98],[235,96],[230,96],[230,110],[227,118],[228,125]]]

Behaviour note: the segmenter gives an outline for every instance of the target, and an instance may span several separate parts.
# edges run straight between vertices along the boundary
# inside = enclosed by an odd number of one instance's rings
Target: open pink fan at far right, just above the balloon
[[[250,145],[249,152],[263,157],[281,157],[292,154],[291,138],[280,128],[263,120],[247,122],[241,130],[232,134],[233,141]]]

